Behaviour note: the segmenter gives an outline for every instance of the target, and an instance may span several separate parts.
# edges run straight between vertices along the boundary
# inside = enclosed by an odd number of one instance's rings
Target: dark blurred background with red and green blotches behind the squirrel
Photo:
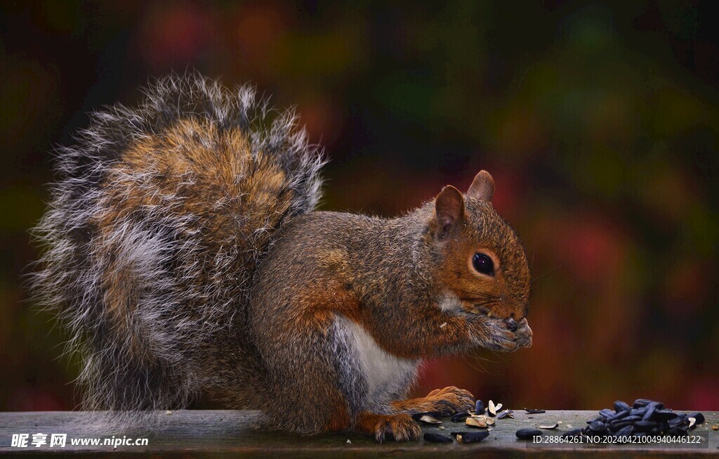
[[[443,3],[2,1],[0,411],[81,396],[20,284],[50,152],[186,69],[297,107],[331,159],[323,209],[395,215],[493,173],[531,260],[534,345],[432,360],[416,394],[719,409],[712,2]]]

